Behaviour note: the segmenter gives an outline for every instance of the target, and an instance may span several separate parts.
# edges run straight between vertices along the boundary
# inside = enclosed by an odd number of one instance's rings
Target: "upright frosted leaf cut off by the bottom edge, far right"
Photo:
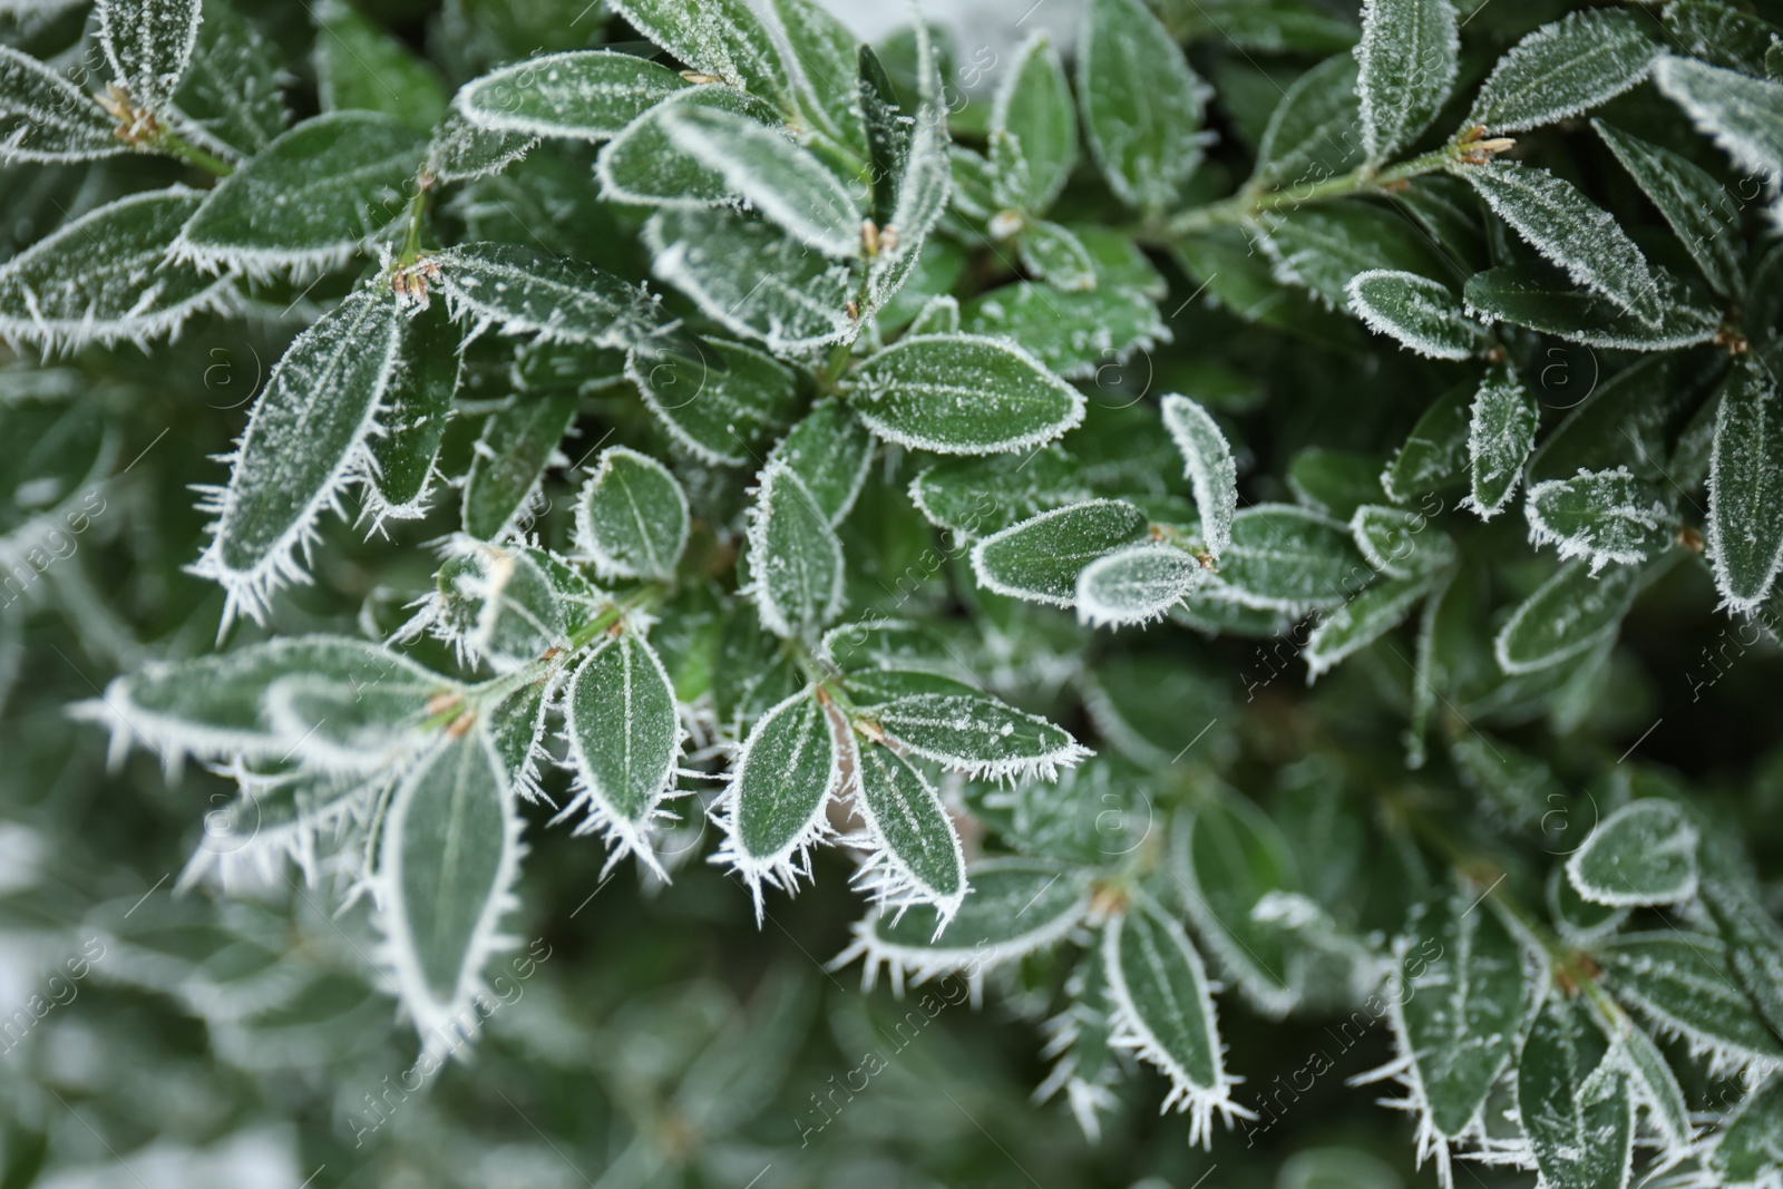
[[[1549,995],[1517,1061],[1517,1116],[1542,1184],[1623,1189],[1633,1160],[1628,1077],[1585,1005]]]

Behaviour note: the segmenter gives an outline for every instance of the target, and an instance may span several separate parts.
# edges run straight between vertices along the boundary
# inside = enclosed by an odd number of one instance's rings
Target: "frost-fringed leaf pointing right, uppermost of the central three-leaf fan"
[[[861,717],[911,756],[972,777],[1054,779],[1061,767],[1089,754],[1070,731],[940,674],[854,672],[849,697]]]

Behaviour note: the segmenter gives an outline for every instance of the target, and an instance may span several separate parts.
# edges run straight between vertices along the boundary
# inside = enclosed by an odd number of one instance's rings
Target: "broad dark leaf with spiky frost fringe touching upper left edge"
[[[0,337],[45,348],[144,342],[226,307],[228,278],[168,258],[203,194],[185,187],[119,198],[0,266]]]

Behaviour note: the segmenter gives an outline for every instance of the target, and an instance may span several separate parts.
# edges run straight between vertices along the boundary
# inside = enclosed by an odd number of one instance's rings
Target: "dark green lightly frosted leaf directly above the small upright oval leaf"
[[[792,421],[799,403],[792,369],[740,342],[706,339],[685,360],[654,344],[631,349],[626,376],[676,442],[710,463],[742,467]]]

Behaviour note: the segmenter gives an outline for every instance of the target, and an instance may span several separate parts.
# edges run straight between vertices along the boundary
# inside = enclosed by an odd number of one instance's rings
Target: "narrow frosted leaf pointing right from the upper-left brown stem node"
[[[512,335],[626,349],[669,321],[638,285],[522,244],[458,244],[431,262],[453,317]]]

